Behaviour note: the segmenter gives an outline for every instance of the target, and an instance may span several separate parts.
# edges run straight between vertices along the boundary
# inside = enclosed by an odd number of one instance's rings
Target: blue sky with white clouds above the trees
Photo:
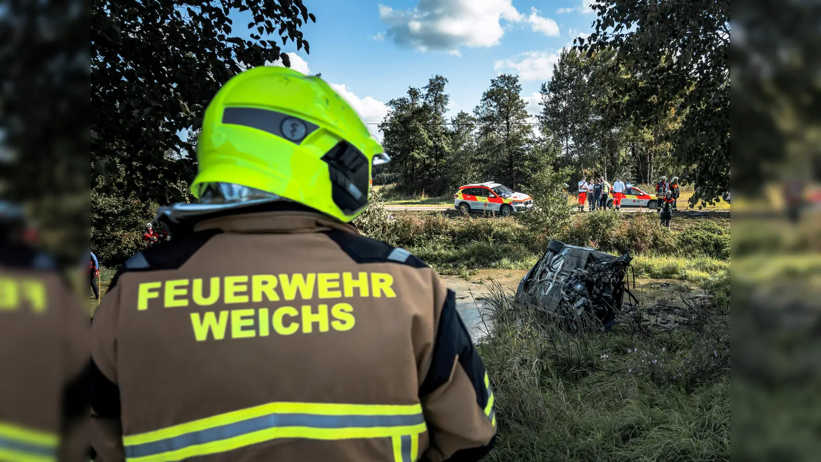
[[[490,80],[520,77],[528,111],[558,53],[592,31],[595,0],[304,0],[316,23],[302,27],[310,53],[290,41],[291,68],[328,81],[367,123],[382,122],[390,99],[447,78],[449,117],[472,112]],[[237,35],[249,12],[230,15]],[[265,38],[265,37],[263,37]],[[277,40],[281,43],[281,40]],[[369,125],[379,139],[378,129]]]

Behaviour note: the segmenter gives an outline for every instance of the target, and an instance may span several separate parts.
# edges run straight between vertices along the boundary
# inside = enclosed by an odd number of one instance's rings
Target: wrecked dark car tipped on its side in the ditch
[[[612,256],[551,239],[547,252],[519,283],[516,298],[568,321],[587,313],[610,329],[627,291],[630,261],[630,254]]]

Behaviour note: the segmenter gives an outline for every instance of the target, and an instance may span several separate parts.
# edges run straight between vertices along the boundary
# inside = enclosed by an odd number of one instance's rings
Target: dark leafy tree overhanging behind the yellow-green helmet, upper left
[[[232,10],[249,11],[251,39],[232,35]],[[101,192],[166,202],[167,184],[190,182],[192,151],[177,132],[196,128],[217,90],[243,67],[282,59],[275,35],[296,49],[316,21],[301,0],[132,2],[94,0],[91,14],[91,178]]]

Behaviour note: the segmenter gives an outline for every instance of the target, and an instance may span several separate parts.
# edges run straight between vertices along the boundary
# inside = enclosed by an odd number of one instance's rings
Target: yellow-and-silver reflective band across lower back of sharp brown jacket
[[[183,460],[277,438],[392,438],[397,461],[418,458],[420,404],[270,403],[123,437],[126,460]]]

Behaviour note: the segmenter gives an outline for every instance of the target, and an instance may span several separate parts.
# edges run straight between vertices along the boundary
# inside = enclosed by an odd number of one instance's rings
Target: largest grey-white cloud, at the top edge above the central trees
[[[385,37],[420,51],[453,51],[460,46],[491,47],[505,30],[500,21],[524,19],[511,0],[419,0],[410,10],[379,5],[389,25]]]

